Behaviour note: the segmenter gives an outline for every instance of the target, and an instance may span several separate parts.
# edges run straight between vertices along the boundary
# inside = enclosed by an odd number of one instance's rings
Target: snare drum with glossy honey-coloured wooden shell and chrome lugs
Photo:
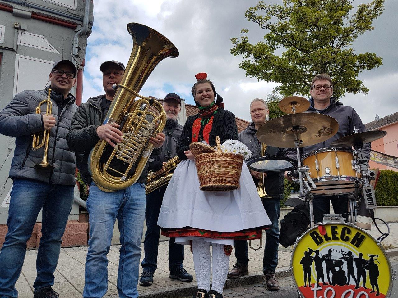
[[[349,149],[322,148],[307,153],[302,159],[316,185],[316,189],[310,191],[312,194],[349,194],[362,186],[360,174],[353,165],[353,151]]]

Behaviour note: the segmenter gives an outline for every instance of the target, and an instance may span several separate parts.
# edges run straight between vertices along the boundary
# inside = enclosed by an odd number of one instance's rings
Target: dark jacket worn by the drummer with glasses
[[[316,150],[316,149],[330,147],[330,143],[332,143],[333,141],[336,141],[337,139],[339,139],[341,137],[345,137],[346,135],[353,134],[354,126],[358,130],[358,132],[366,131],[365,125],[363,125],[361,118],[359,118],[359,116],[358,116],[357,112],[355,112],[354,108],[352,108],[351,106],[343,106],[343,103],[336,101],[335,97],[332,97],[330,105],[326,109],[324,109],[320,112],[314,108],[314,99],[311,97],[309,100],[310,100],[311,105],[310,105],[310,108],[308,108],[308,110],[306,112],[321,113],[321,114],[333,117],[334,119],[336,119],[336,121],[339,124],[339,130],[334,136],[332,136],[330,139],[328,139],[322,143],[302,147],[302,149],[301,149],[302,155],[305,155],[305,154],[307,154],[313,150]],[[370,150],[371,150],[371,144],[366,143],[366,144],[364,144],[364,146],[365,146],[365,153],[367,153],[367,155],[369,157]],[[349,148],[349,149],[351,149],[351,148]],[[294,149],[294,148],[287,149],[287,157],[297,160],[296,149]]]

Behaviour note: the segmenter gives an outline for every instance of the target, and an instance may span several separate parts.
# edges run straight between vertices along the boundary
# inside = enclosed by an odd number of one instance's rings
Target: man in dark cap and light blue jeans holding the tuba
[[[106,161],[116,143],[122,141],[123,135],[123,132],[118,129],[119,124],[101,124],[116,93],[112,86],[121,82],[125,66],[121,62],[112,60],[101,64],[100,70],[103,74],[105,94],[90,98],[78,107],[67,135],[68,145],[80,157],[77,164],[82,177],[90,185],[87,199],[90,240],[88,241],[83,297],[101,298],[107,292],[107,253],[111,246],[116,218],[119,223],[121,242],[117,289],[121,297],[138,297],[137,283],[148,166],[145,166],[136,183],[123,190],[105,192],[92,181],[87,166],[91,149],[101,139],[107,141],[110,146],[107,146],[103,153],[103,159]],[[164,143],[164,134],[158,133],[156,138],[150,137],[150,143],[155,146],[151,157],[155,157],[162,150],[160,147]],[[101,162],[105,161],[101,159]],[[110,167],[121,171],[123,163],[113,160]]]

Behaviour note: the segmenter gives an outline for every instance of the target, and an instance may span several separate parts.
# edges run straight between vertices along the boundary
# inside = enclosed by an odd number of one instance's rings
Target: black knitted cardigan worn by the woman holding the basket
[[[177,155],[181,160],[187,159],[184,151],[189,150],[189,144],[192,143],[193,122],[199,118],[199,114],[189,116],[185,122],[181,133],[181,138],[177,145]],[[213,118],[213,126],[209,135],[209,145],[216,145],[216,136],[220,137],[220,142],[224,143],[227,139],[238,139],[238,127],[236,126],[235,115],[223,108],[218,108]]]

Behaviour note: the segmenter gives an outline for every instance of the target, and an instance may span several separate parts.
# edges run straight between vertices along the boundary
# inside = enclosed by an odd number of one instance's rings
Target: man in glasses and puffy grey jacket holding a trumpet
[[[26,243],[41,209],[43,219],[39,251],[37,253],[37,277],[33,283],[34,298],[55,298],[51,288],[57,267],[68,215],[73,203],[75,184],[75,157],[66,145],[66,133],[76,111],[75,98],[69,93],[76,83],[76,67],[69,60],[55,62],[49,75],[51,85],[44,90],[26,90],[18,93],[0,112],[0,133],[16,137],[16,148],[10,169],[14,180],[8,233],[0,253],[0,297],[18,297],[15,284],[21,274]],[[51,88],[51,116],[45,115]],[[44,111],[44,112],[43,112]],[[49,131],[48,162],[54,168],[36,168],[40,164],[45,146],[32,150],[32,135]]]

